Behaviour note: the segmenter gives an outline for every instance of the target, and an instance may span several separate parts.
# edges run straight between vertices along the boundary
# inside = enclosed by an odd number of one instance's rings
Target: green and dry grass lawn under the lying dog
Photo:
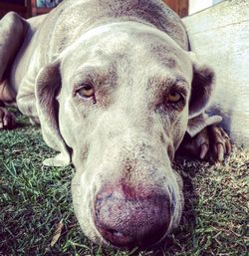
[[[40,129],[27,126],[0,131],[0,255],[131,255],[102,248],[81,232],[72,207],[74,168],[46,167],[54,154]],[[181,224],[167,242],[136,255],[248,255],[249,153],[234,147],[222,164],[177,159],[184,180]],[[54,246],[60,221],[64,227]]]

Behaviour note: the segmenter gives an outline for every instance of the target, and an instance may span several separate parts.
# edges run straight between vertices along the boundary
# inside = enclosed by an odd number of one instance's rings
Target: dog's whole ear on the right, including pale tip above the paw
[[[220,116],[208,117],[204,115],[212,91],[214,89],[214,71],[206,65],[197,62],[193,53],[189,53],[193,63],[193,79],[189,102],[189,120],[187,132],[194,136],[201,129],[218,124],[222,121]]]

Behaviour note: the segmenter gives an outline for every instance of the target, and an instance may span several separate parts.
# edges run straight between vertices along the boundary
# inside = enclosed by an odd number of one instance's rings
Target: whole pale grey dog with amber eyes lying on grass
[[[214,72],[190,52],[160,0],[65,0],[47,15],[0,21],[0,100],[41,125],[72,162],[76,216],[97,243],[149,247],[179,224],[181,145],[222,160],[231,145],[205,108]],[[0,108],[0,128],[15,118]],[[183,137],[187,137],[184,138]]]

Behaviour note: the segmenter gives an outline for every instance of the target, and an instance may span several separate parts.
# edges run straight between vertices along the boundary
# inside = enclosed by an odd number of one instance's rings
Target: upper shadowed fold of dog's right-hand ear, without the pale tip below
[[[214,89],[214,71],[197,62],[193,53],[190,53],[193,64],[193,78],[191,86],[191,96],[189,102],[189,119],[201,114],[210,100]]]

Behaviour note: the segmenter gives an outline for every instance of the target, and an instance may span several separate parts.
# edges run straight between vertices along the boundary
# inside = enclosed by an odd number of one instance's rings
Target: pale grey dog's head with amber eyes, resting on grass
[[[142,247],[177,226],[182,184],[170,162],[211,82],[167,35],[131,22],[87,32],[40,72],[43,135],[62,152],[54,164],[72,157],[74,207],[90,238]]]

